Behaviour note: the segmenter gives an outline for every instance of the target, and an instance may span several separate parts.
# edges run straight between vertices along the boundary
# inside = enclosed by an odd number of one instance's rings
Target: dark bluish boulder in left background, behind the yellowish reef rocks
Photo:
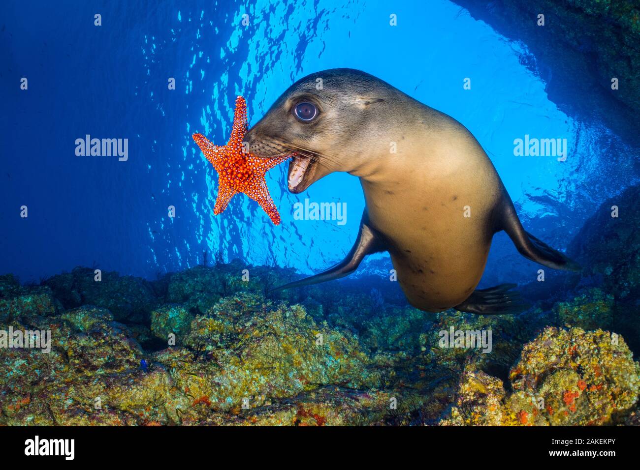
[[[91,304],[109,309],[118,322],[145,323],[157,305],[148,281],[133,276],[119,276],[117,272],[102,272],[102,280],[95,281],[94,270],[77,267],[72,272],[58,274],[44,281],[65,308]]]

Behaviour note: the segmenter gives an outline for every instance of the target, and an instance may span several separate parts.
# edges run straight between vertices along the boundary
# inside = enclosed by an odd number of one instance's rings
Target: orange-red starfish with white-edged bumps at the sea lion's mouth
[[[264,179],[265,173],[289,158],[289,155],[273,159],[260,159],[252,153],[245,153],[243,138],[249,129],[246,121],[246,102],[236,98],[234,125],[227,145],[213,145],[202,134],[193,134],[193,140],[218,172],[218,198],[213,213],[221,214],[237,192],[244,192],[259,203],[271,221],[280,224],[280,214],[273,203]]]

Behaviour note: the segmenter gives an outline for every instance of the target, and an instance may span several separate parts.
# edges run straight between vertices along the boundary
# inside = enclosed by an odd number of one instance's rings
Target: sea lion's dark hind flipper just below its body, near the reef
[[[529,304],[520,301],[520,294],[513,289],[515,284],[501,284],[488,289],[477,289],[469,298],[456,305],[456,310],[476,315],[513,315],[530,307]]]

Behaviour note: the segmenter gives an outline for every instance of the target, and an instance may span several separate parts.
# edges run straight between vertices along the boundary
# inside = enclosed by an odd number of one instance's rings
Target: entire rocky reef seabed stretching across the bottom
[[[362,283],[270,290],[294,276],[237,261],[156,281],[1,276],[0,424],[637,421],[640,366],[612,329],[615,283],[479,317],[419,311]]]

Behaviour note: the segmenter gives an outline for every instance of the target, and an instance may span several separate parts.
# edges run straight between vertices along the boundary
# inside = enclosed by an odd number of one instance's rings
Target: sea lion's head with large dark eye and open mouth
[[[257,157],[292,155],[289,191],[305,191],[334,171],[356,174],[380,152],[376,136],[391,118],[396,93],[373,75],[350,68],[310,74],[290,86],[244,136]],[[378,148],[372,149],[372,146]],[[386,146],[388,153],[388,144]]]

